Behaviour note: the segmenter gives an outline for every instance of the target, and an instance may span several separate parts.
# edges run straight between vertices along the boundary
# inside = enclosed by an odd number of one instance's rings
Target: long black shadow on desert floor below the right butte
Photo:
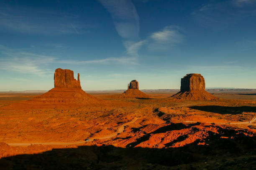
[[[241,107],[230,107],[230,106],[191,106],[191,109],[202,110],[205,112],[214,112],[219,114],[242,114],[243,112],[256,112],[256,107],[254,106],[241,106]]]

